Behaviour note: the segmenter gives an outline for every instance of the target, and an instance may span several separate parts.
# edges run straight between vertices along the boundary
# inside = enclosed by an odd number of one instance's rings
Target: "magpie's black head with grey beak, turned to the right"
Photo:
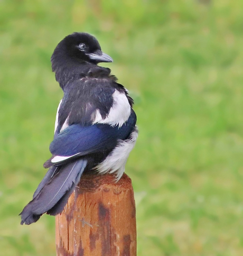
[[[97,39],[88,33],[73,33],[64,38],[55,48],[52,57],[52,71],[63,88],[70,79],[86,74],[91,66],[99,62],[112,62],[101,51]]]

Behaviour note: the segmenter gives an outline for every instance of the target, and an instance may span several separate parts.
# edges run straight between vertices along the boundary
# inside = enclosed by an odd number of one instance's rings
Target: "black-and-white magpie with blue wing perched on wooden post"
[[[66,36],[55,48],[52,71],[63,90],[58,106],[49,168],[21,215],[29,225],[42,214],[62,212],[83,172],[114,173],[119,180],[137,139],[136,114],[128,90],[117,83],[113,62],[88,33]]]

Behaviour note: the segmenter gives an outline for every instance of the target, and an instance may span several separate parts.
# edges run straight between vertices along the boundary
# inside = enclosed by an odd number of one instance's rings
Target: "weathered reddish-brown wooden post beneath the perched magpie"
[[[136,256],[132,182],[124,174],[83,175],[56,216],[58,256]]]

